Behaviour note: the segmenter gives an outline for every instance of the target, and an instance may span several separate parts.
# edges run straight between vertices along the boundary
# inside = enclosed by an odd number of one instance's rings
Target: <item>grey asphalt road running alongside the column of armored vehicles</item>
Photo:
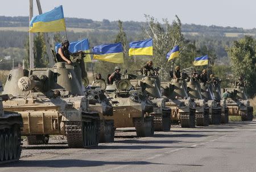
[[[24,143],[21,160],[0,171],[256,171],[256,122],[117,135],[92,149],[69,149],[61,137],[40,147]]]

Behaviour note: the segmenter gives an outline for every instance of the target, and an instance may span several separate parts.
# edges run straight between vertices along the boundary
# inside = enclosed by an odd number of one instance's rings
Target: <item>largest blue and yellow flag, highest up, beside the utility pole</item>
[[[33,17],[29,32],[59,32],[65,30],[65,20],[62,6]]]

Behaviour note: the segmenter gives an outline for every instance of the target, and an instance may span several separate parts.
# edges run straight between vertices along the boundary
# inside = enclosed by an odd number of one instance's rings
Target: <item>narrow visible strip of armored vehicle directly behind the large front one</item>
[[[113,106],[104,93],[106,83],[102,80],[94,81],[90,88],[92,89],[87,90],[88,99],[92,102],[89,109],[97,111],[100,115],[100,142],[113,142],[115,134],[114,120],[105,119],[107,116],[113,116]]]

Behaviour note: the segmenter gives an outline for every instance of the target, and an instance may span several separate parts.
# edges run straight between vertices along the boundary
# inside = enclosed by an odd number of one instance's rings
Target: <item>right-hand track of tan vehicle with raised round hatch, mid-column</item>
[[[134,118],[134,126],[138,137],[148,137],[154,135],[153,117]]]

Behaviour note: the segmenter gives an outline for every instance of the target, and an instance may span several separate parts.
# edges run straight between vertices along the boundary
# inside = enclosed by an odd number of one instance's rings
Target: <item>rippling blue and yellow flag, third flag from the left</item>
[[[123,63],[123,48],[120,42],[94,46],[92,52],[96,53],[93,54],[93,59],[112,63]]]

